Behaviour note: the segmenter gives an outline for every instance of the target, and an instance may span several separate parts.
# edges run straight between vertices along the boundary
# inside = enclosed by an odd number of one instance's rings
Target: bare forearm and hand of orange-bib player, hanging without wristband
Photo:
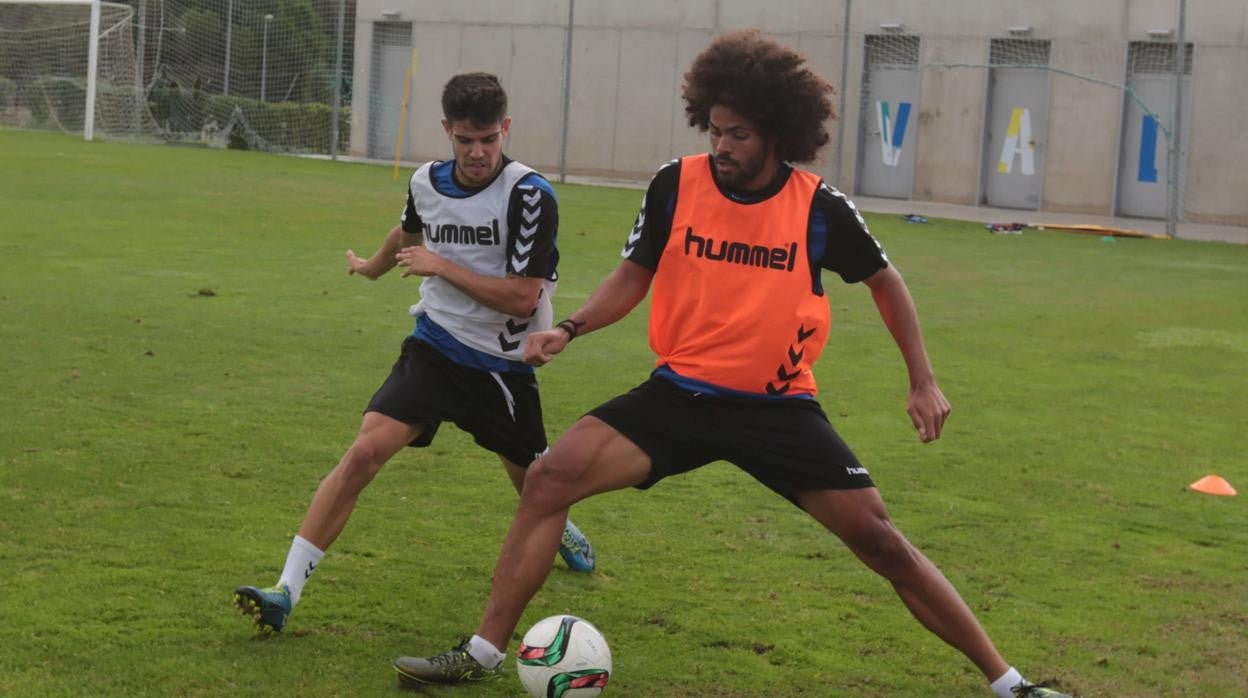
[[[871,298],[880,317],[884,320],[892,340],[897,342],[901,356],[910,372],[910,400],[906,411],[924,442],[940,438],[945,420],[950,413],[948,401],[936,385],[927,350],[924,347],[924,335],[919,328],[919,312],[910,296],[901,273],[889,265],[871,275],[865,283],[871,288]]]

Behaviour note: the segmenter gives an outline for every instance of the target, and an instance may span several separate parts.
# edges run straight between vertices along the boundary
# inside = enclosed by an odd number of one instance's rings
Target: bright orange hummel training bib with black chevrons
[[[774,196],[724,196],[709,155],[681,160],[671,235],[655,271],[650,348],[658,365],[759,395],[815,395],[810,368],[831,312],[807,250],[819,177],[792,170]]]

